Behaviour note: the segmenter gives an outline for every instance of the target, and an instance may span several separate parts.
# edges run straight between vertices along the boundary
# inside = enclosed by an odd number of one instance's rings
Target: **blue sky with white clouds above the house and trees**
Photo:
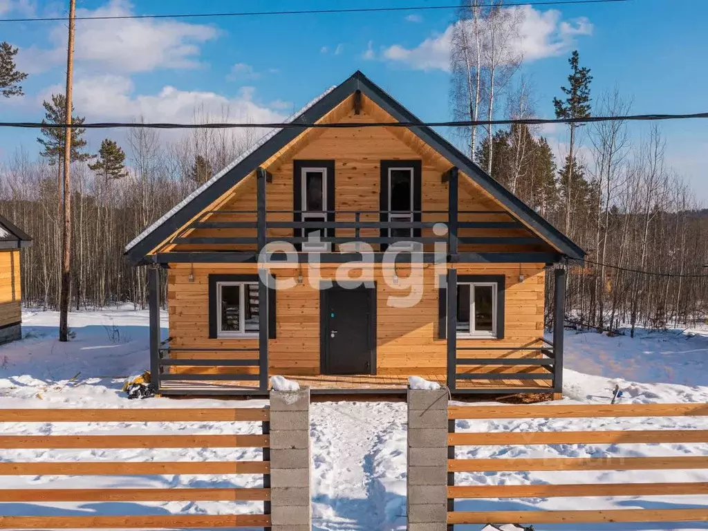
[[[79,14],[273,11],[333,6],[456,4],[457,0],[79,0]],[[66,2],[0,0],[0,18],[64,13]],[[552,98],[577,48],[592,69],[593,95],[617,86],[636,113],[708,110],[705,53],[708,1],[632,0],[617,4],[525,9],[523,72],[537,113],[552,117]],[[93,120],[188,122],[195,105],[230,118],[282,120],[328,86],[361,69],[424,120],[449,118],[447,41],[453,10],[180,20],[79,21],[76,111]],[[0,40],[21,48],[30,77],[26,96],[0,101],[3,120],[38,121],[41,102],[64,83],[62,23],[0,23]],[[648,125],[632,125],[635,139]],[[663,122],[668,164],[708,200],[708,121]],[[544,131],[561,152],[561,127]],[[91,147],[101,136],[91,135]],[[122,139],[122,132],[109,136]],[[20,146],[33,156],[37,132],[0,130],[0,161]]]

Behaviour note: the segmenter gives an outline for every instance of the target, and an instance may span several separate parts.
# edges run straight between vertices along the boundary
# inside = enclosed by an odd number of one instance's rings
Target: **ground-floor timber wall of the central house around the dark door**
[[[335,278],[337,265],[321,265],[321,278]],[[387,304],[388,297],[406,295],[410,288],[397,290],[383,280],[382,265],[372,266],[362,280],[375,280],[377,285],[377,374],[430,375],[445,372],[446,341],[438,338],[438,287],[435,279],[445,265],[423,265],[422,278],[413,282],[421,291],[421,301],[413,307],[397,308]],[[390,267],[390,266],[389,266]],[[539,346],[543,336],[544,265],[543,264],[456,264],[459,275],[505,275],[505,337],[503,339],[458,339],[457,345],[509,347],[509,350],[475,351],[475,358],[504,358],[513,348]],[[307,268],[307,265],[303,265]],[[189,275],[193,273],[193,281]],[[209,294],[210,274],[255,275],[256,265],[247,264],[171,264],[168,270],[169,336],[171,346],[190,348],[258,347],[257,339],[210,339]],[[300,270],[273,270],[277,278],[297,279]],[[409,280],[410,265],[396,266],[399,285]],[[308,285],[307,270],[302,270],[303,283],[291,290],[280,290],[276,297],[276,334],[270,339],[270,373],[284,375],[317,375],[320,367],[319,290]],[[353,271],[352,278],[361,272]],[[520,275],[524,280],[520,281]],[[518,353],[515,353],[518,355]],[[257,353],[224,353],[200,351],[175,352],[173,358],[249,359]],[[458,358],[472,357],[458,351]],[[207,367],[198,367],[204,370]],[[495,365],[464,367],[461,372],[512,372],[515,367],[501,369]],[[191,372],[190,368],[181,369]],[[219,367],[205,372],[250,372],[248,367]]]

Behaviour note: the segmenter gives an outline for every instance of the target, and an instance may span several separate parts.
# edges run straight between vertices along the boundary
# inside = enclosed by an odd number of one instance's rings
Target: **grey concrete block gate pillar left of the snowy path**
[[[309,389],[270,392],[273,531],[311,531]]]

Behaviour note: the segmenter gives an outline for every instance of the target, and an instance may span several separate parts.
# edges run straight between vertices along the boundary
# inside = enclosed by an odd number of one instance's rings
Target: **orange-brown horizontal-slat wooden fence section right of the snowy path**
[[[455,484],[455,472],[590,471],[708,469],[708,455],[680,457],[606,458],[493,458],[455,459],[455,446],[647,444],[708,442],[708,430],[617,430],[566,432],[455,433],[457,419],[598,418],[708,416],[708,404],[617,404],[578,406],[450,406],[448,408],[447,525],[508,523],[608,523],[708,521],[708,503],[700,508],[612,510],[500,510],[457,511],[455,499],[530,498],[580,496],[681,496],[708,495],[702,483],[623,483],[566,485]],[[708,498],[707,498],[708,499]]]

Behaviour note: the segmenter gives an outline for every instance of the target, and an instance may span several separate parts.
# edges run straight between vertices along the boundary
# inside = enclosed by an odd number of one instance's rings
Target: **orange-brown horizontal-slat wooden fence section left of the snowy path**
[[[270,413],[258,409],[0,409],[0,422],[261,422],[256,435],[0,435],[0,449],[263,448],[262,461],[0,462],[0,476],[263,474],[262,489],[0,489],[0,502],[263,501],[260,514],[3,516],[0,529],[270,527]],[[0,484],[3,481],[0,479]]]

